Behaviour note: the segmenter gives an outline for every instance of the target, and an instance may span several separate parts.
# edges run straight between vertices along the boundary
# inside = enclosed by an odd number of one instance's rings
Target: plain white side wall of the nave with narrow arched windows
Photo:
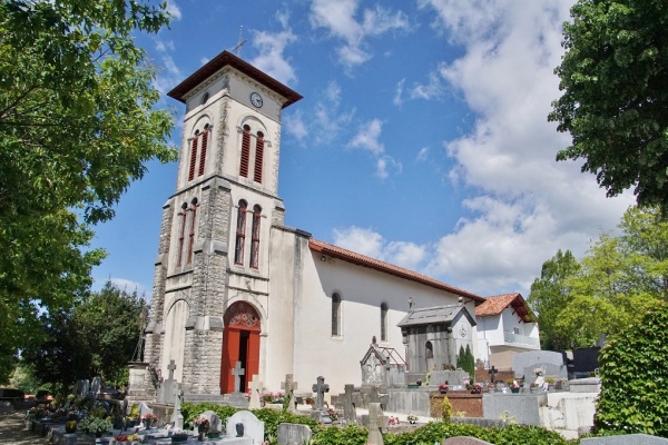
[[[401,279],[341,259],[316,253],[304,253],[304,290],[296,307],[303,316],[295,334],[295,379],[315,382],[318,375],[334,393],[345,384],[360,385],[360,360],[373,336],[380,346],[395,348],[405,358],[401,329],[396,326],[409,310],[409,297],[414,307],[456,304],[458,296]],[[342,298],[341,336],[332,336],[332,295]],[[389,305],[387,342],[381,342],[381,304]],[[471,308],[474,314],[474,309]],[[474,335],[474,334],[473,334]],[[474,346],[477,349],[477,347]]]

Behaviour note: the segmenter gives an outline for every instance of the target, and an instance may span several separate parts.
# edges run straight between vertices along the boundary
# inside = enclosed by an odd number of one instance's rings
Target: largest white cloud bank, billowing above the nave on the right
[[[471,131],[443,141],[454,164],[449,176],[469,194],[462,202],[468,217],[430,246],[389,243],[356,227],[336,231],[335,243],[390,263],[411,263],[406,267],[481,295],[519,290],[528,296],[543,261],[558,249],[583,255],[589,239],[613,227],[632,204],[630,194],[606,198],[578,162],[554,160],[569,144],[547,115],[559,97],[553,69],[562,56],[560,23],[568,20],[570,6],[504,0],[420,4],[435,11],[434,29],[463,49],[407,92],[430,99],[454,89],[475,115]],[[395,103],[403,88],[401,81]],[[380,120],[371,121],[350,145],[381,154],[381,130]],[[424,147],[418,159],[426,155]],[[385,171],[386,164],[377,168]],[[399,250],[420,255],[406,259]]]

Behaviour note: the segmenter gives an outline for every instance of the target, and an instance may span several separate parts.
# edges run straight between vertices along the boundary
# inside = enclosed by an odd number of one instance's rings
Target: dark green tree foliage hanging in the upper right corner
[[[556,69],[563,95],[550,121],[609,197],[635,187],[639,205],[668,208],[668,9],[662,0],[579,0],[563,24]]]

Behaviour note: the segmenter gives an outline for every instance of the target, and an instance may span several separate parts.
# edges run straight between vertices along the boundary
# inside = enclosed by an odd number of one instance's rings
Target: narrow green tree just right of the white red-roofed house
[[[536,278],[531,285],[527,301],[538,313],[543,349],[567,349],[571,346],[569,333],[558,329],[557,320],[572,300],[568,279],[579,270],[580,265],[570,250],[558,250],[557,255],[543,263],[540,278]]]

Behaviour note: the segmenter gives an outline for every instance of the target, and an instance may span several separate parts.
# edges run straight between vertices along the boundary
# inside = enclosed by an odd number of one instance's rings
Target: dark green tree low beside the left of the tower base
[[[107,281],[73,309],[52,314],[39,348],[23,354],[35,375],[63,393],[77,379],[101,376],[112,385],[127,383],[127,364],[138,345],[146,304]]]

